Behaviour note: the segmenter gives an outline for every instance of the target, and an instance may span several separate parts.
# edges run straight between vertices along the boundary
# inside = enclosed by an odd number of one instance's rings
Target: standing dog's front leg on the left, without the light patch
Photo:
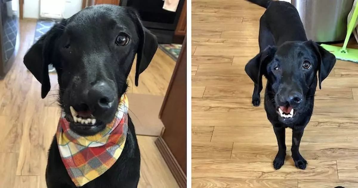
[[[274,125],[274,131],[277,139],[277,144],[279,145],[279,152],[277,152],[276,158],[274,160],[274,168],[280,169],[285,163],[286,157],[286,143],[285,143],[285,127]]]

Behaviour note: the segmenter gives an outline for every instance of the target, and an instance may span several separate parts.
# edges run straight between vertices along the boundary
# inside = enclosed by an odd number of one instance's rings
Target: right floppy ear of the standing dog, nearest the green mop
[[[314,47],[317,60],[318,60],[318,83],[319,89],[321,89],[321,82],[328,76],[332,71],[334,64],[336,62],[335,56],[321,47],[319,44],[310,41],[311,45]]]

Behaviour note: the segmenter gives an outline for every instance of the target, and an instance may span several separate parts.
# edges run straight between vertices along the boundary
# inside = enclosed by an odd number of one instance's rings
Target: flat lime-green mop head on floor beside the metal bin
[[[321,44],[321,47],[332,53],[336,59],[358,63],[358,49],[347,48],[343,50],[342,47],[328,44]]]

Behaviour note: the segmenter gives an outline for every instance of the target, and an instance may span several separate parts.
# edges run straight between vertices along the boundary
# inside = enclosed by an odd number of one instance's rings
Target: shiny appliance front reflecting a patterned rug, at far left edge
[[[18,0],[0,0],[0,79],[9,72],[19,49],[18,5]]]

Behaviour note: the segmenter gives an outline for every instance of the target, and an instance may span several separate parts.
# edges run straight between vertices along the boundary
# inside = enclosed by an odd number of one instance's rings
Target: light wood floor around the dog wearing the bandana
[[[46,188],[47,151],[60,111],[55,103],[56,75],[50,76],[52,90],[42,100],[40,83],[26,71],[22,62],[33,43],[35,25],[35,21],[21,21],[18,56],[9,74],[0,81],[1,188]],[[129,92],[164,96],[174,65],[170,57],[158,50],[148,69],[141,74],[139,87],[130,88]],[[134,78],[133,72],[131,75]],[[142,155],[139,188],[178,187],[154,144],[155,137],[137,138]]]

